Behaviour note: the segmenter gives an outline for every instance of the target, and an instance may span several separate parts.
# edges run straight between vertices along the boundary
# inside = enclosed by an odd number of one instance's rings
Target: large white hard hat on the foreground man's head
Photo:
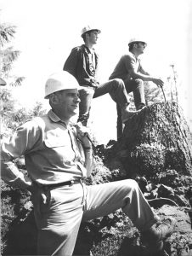
[[[55,91],[67,90],[67,89],[77,89],[80,90],[77,80],[71,73],[66,71],[60,71],[58,73],[53,73],[48,78],[45,84],[45,99]]]

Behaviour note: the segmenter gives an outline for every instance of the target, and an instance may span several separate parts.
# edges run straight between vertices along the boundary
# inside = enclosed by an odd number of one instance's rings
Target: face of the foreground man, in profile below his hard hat
[[[79,92],[76,89],[60,90],[57,93],[59,102],[58,107],[62,112],[62,115],[66,118],[71,118],[78,113],[78,106],[80,98]]]

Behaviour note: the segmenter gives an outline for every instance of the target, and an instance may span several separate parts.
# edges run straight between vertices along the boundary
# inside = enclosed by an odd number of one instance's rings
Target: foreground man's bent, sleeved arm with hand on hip
[[[37,131],[33,122],[26,122],[14,133],[10,140],[1,145],[1,177],[5,183],[14,188],[30,189],[31,178],[20,172],[14,160],[29,152],[37,142]]]

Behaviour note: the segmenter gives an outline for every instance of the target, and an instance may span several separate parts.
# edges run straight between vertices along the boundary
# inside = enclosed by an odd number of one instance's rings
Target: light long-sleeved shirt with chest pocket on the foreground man
[[[25,156],[28,176],[14,164],[13,160],[21,155]],[[28,120],[9,141],[3,142],[1,161],[1,176],[13,187],[31,181],[53,184],[87,176],[85,155],[76,131],[65,125],[52,110]]]

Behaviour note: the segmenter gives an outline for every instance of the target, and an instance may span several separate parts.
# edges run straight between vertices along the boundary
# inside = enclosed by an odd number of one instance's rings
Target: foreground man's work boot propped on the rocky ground
[[[149,230],[141,234],[141,241],[150,247],[152,253],[163,251],[163,240],[172,235],[175,229],[176,219],[167,218],[162,222],[153,224]]]

